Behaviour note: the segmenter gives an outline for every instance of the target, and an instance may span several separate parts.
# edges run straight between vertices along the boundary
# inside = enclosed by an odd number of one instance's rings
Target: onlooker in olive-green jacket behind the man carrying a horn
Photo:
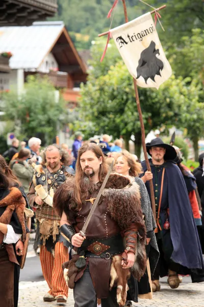
[[[31,150],[28,148],[20,149],[18,152],[18,158],[11,161],[10,167],[13,170],[14,174],[21,182],[25,193],[28,193],[29,186],[32,181],[32,176],[34,173],[34,169],[31,165],[26,161],[31,156]],[[36,157],[34,156],[32,162],[36,162]]]

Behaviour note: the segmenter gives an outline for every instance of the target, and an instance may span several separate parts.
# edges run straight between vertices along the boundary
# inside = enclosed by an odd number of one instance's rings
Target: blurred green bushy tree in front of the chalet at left
[[[17,135],[32,137],[41,134],[46,144],[52,143],[65,110],[65,102],[56,102],[55,87],[45,77],[30,76],[24,93],[6,93],[5,119],[13,121]]]

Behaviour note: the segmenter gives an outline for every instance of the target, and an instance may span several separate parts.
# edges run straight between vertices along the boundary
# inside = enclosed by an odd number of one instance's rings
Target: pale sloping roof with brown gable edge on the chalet
[[[63,21],[37,21],[30,27],[0,27],[0,51],[10,51],[11,69],[36,70],[44,57],[56,53],[59,68],[68,72],[69,65],[86,73],[86,65],[75,49]],[[60,47],[60,48],[59,48]],[[59,56],[64,53],[64,58]],[[56,55],[57,55],[56,53]]]

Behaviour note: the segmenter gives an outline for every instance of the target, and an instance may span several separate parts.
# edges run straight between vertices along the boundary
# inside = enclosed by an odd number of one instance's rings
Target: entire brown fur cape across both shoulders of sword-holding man
[[[62,184],[54,195],[55,210],[60,216],[64,211],[70,224],[74,224],[74,216],[77,213],[74,211],[73,189],[74,178]],[[136,262],[132,271],[135,278],[140,279],[146,269],[146,229],[140,205],[139,186],[136,182],[131,182],[130,178],[111,174],[103,192],[103,198],[107,211],[121,230],[129,228],[132,223],[138,226]]]

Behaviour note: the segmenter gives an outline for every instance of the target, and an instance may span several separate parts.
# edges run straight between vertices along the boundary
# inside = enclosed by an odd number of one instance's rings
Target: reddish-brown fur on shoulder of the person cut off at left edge
[[[10,188],[10,193],[0,201],[0,207],[7,207],[2,216],[0,223],[9,224],[11,216],[15,210],[19,223],[22,227],[22,239],[25,240],[26,230],[24,222],[25,200],[18,188]],[[0,244],[3,242],[4,234],[0,232]]]

